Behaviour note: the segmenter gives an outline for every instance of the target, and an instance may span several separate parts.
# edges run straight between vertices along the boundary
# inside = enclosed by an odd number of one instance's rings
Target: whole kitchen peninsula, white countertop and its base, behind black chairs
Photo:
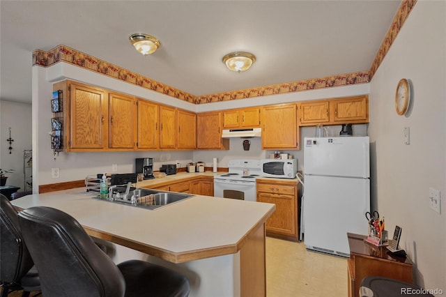
[[[92,196],[75,188],[12,203],[69,213],[115,248],[114,261],[145,259],[186,275],[190,296],[266,296],[265,221],[274,204],[197,195],[150,211]]]

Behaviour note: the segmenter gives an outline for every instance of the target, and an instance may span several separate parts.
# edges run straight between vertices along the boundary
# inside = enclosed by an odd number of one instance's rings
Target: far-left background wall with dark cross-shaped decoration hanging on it
[[[9,128],[11,128],[11,144],[9,153]],[[0,100],[0,168],[14,169],[6,174],[6,185],[20,187],[24,190],[23,151],[31,149],[31,104]]]

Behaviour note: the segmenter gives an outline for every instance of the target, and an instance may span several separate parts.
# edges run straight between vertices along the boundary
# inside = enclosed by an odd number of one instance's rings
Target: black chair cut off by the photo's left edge
[[[10,291],[40,291],[38,272],[23,241],[17,211],[5,195],[0,194],[0,282],[1,297]]]

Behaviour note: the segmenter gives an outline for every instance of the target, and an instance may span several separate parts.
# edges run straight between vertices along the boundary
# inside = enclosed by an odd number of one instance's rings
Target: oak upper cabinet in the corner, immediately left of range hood
[[[197,148],[229,149],[229,139],[222,139],[222,112],[197,114]]]

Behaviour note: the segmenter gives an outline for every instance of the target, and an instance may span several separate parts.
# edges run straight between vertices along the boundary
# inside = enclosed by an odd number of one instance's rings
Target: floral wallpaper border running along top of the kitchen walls
[[[404,21],[407,19],[410,11],[415,6],[417,0],[403,0],[397,15],[395,15],[392,25],[390,26],[387,35],[384,38],[383,43],[375,56],[374,62],[372,63],[370,70],[364,70],[356,73],[347,73],[342,75],[333,75],[330,77],[321,77],[314,79],[305,79],[296,82],[286,82],[282,84],[272,84],[268,86],[260,86],[251,89],[243,89],[237,91],[228,91],[224,93],[215,93],[204,96],[194,96],[185,91],[175,89],[167,84],[162,84],[148,77],[144,77],[137,73],[132,73],[129,70],[121,68],[119,66],[113,65],[106,61],[102,61],[89,54],[84,54],[74,50],[66,45],[58,45],[52,50],[45,52],[43,50],[34,50],[33,52],[33,66],[43,66],[49,67],[55,63],[61,61],[85,68],[87,70],[100,73],[102,75],[107,75],[109,77],[114,77],[116,79],[121,79],[129,84],[136,84],[143,88],[155,91],[158,93],[163,93],[167,96],[171,96],[180,100],[185,100],[194,104],[203,104],[210,102],[222,102],[227,100],[237,100],[245,98],[256,98],[261,96],[269,96],[275,94],[291,93],[298,91],[307,91],[312,89],[323,89],[331,88],[334,86],[346,86],[348,84],[362,84],[370,82],[376,70],[383,61],[385,55],[387,54],[390,45],[394,42],[397,37],[401,26],[403,26]]]

